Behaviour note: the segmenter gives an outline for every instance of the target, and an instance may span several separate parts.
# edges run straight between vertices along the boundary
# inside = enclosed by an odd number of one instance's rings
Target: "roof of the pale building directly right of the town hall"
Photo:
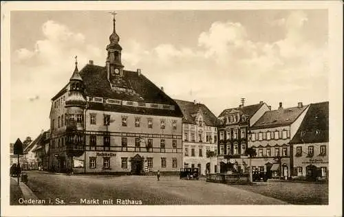
[[[217,117],[208,109],[207,106],[200,103],[194,103],[184,100],[175,100],[183,113],[183,123],[196,124],[195,114],[202,112],[203,121],[207,126],[217,126]]]

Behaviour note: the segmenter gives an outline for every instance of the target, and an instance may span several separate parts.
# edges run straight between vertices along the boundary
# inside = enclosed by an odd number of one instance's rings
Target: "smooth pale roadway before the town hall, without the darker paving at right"
[[[63,200],[63,205],[94,205],[99,199],[142,201],[142,205],[283,205],[286,202],[234,185],[180,180],[177,176],[85,176],[28,172],[28,187],[45,201]],[[86,199],[86,201],[85,201]],[[76,203],[74,203],[76,202]],[[85,203],[84,203],[85,202]],[[89,202],[89,203],[87,203]],[[58,203],[61,205],[61,203]],[[53,205],[47,204],[45,205]],[[56,203],[55,203],[56,205]],[[96,203],[98,205],[98,203]]]

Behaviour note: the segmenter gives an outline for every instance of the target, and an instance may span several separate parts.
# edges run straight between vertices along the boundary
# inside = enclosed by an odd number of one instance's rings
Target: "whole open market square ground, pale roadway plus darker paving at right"
[[[28,174],[28,187],[45,200],[42,205],[328,204],[328,185],[320,183],[268,181],[224,185],[180,180],[177,176],[161,176],[157,181],[155,176],[68,176],[35,171]],[[19,205],[14,200],[12,204]],[[25,205],[30,205],[30,201]]]

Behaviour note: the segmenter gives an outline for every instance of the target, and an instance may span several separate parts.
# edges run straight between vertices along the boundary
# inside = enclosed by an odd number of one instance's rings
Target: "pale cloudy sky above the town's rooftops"
[[[10,140],[50,126],[51,98],[79,70],[105,65],[109,11],[12,11]],[[327,10],[119,10],[125,69],[215,115],[264,101],[277,109],[329,100]]]

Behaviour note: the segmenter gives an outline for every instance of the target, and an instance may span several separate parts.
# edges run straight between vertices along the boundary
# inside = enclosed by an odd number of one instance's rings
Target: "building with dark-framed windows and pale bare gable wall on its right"
[[[266,111],[270,108],[262,101],[222,111],[219,115],[217,172],[247,172],[245,150],[248,147],[248,131]]]

